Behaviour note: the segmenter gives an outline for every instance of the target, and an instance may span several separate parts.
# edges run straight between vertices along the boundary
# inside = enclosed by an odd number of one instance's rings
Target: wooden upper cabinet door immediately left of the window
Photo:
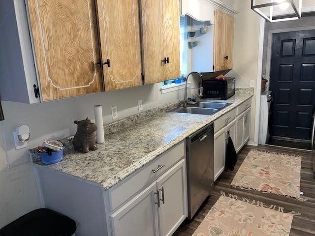
[[[163,80],[172,80],[180,77],[180,1],[160,1],[163,2],[163,57],[169,60],[163,64]]]

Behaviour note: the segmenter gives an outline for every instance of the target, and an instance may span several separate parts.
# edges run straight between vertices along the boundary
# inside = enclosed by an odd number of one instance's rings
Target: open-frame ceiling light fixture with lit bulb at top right
[[[255,4],[257,1],[259,1],[260,4]],[[266,3],[261,3],[261,1],[262,0],[252,0],[251,8],[269,22],[301,19],[302,0],[268,0],[269,2]],[[293,9],[292,12],[282,12],[287,10],[290,6]],[[264,9],[264,11],[261,9]]]

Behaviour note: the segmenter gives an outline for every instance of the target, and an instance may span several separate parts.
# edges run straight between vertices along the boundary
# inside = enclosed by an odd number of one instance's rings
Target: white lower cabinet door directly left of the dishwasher
[[[157,181],[160,236],[171,236],[187,216],[186,178],[185,160],[182,159]]]

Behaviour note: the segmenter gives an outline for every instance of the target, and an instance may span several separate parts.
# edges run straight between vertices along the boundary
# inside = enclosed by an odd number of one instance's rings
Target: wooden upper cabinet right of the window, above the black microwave
[[[215,71],[233,67],[234,17],[220,10],[215,15]]]

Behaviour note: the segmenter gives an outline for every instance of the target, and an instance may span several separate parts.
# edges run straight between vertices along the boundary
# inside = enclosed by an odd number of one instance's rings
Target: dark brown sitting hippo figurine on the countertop
[[[74,148],[83,153],[96,150],[95,131],[97,127],[95,123],[92,123],[89,118],[80,121],[75,120],[74,123],[78,125],[78,130],[72,141]]]

